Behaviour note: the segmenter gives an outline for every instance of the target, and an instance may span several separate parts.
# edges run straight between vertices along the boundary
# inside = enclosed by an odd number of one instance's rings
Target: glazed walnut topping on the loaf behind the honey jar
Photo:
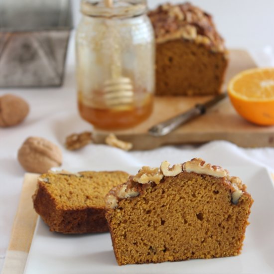
[[[208,45],[213,51],[224,51],[224,40],[215,29],[212,17],[197,6],[186,2],[165,3],[148,13],[157,43],[180,37]]]

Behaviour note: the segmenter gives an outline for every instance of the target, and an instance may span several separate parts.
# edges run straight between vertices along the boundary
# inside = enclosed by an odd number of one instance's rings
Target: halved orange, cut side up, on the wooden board
[[[243,118],[257,125],[274,125],[274,68],[240,72],[230,80],[228,94]]]

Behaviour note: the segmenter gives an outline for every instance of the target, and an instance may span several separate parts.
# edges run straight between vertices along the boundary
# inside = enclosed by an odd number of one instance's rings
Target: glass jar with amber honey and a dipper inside
[[[78,108],[96,128],[130,128],[152,112],[155,43],[146,10],[146,0],[81,2]]]

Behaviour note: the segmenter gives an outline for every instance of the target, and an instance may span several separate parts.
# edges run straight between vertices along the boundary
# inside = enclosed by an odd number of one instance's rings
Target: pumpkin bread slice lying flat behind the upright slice
[[[42,174],[38,177],[37,189],[32,197],[34,209],[50,231],[108,231],[105,196],[112,187],[126,182],[128,176],[123,171]]]

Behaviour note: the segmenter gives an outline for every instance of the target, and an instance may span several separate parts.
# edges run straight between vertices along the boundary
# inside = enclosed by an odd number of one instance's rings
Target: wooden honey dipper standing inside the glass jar
[[[105,6],[112,8],[113,0],[104,0]],[[114,38],[114,37],[113,37]],[[120,47],[113,41],[111,79],[104,83],[105,103],[110,108],[120,108],[132,105],[134,102],[133,84],[130,78],[122,76]]]

